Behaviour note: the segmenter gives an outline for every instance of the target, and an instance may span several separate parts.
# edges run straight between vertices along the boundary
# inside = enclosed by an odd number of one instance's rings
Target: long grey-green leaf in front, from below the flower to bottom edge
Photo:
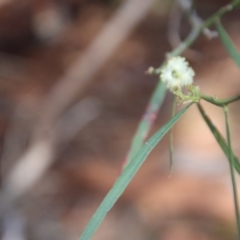
[[[160,128],[136,154],[129,165],[124,169],[120,177],[117,179],[112,189],[108,192],[107,196],[103,199],[92,219],[82,233],[80,240],[89,240],[94,232],[97,230],[108,211],[113,207],[117,199],[122,195],[125,188],[132,180],[138,169],[146,160],[150,152],[159,143],[163,136],[173,127],[173,125],[180,119],[186,110],[192,105],[184,107],[173,118],[171,118],[162,128]]]

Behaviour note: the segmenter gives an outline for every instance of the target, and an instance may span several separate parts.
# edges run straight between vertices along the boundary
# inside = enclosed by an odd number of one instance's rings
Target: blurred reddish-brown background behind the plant
[[[188,1],[182,1],[188,2]],[[202,19],[225,0],[195,1]],[[0,0],[1,239],[78,239],[120,173],[157,77],[190,31],[169,0]],[[240,47],[240,11],[223,25]],[[239,94],[218,38],[185,53],[202,92]],[[221,109],[203,103],[223,135]],[[171,115],[168,94],[151,132]],[[239,103],[230,107],[240,154]],[[236,239],[228,161],[195,106],[154,149],[94,240]]]

